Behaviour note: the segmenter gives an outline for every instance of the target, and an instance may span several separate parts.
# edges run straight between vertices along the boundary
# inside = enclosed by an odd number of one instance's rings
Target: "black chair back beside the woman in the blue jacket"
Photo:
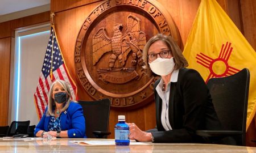
[[[79,100],[84,110],[85,133],[87,138],[95,138],[93,131],[108,131],[110,100],[101,99],[96,101]]]

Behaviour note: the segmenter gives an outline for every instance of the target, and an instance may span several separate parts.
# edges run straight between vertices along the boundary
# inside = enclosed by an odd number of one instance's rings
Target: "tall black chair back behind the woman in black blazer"
[[[245,145],[249,83],[248,69],[224,78],[209,79],[207,83],[222,127],[224,130],[242,131],[242,135],[234,137],[237,145],[242,146]]]

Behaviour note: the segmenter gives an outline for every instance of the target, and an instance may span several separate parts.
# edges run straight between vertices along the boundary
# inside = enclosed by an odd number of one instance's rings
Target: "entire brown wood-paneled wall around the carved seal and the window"
[[[92,98],[84,91],[79,78],[76,76],[74,65],[75,42],[82,23],[101,2],[101,0],[51,0],[51,11],[55,12],[56,35],[69,73],[77,84],[78,96],[82,100],[92,100]],[[158,2],[168,10],[174,19],[184,46],[200,0],[158,0]],[[254,11],[256,2],[254,0],[217,0],[217,2],[220,3],[254,50],[256,50],[256,12]],[[9,82],[12,81],[9,77],[11,37],[14,36],[14,29],[49,22],[49,16],[49,12],[44,12],[0,23],[0,70],[2,70],[0,76],[0,126],[7,124]],[[183,46],[181,47],[183,48]],[[114,125],[117,123],[118,114],[126,115],[127,122],[135,122],[142,130],[155,127],[155,104],[153,99],[148,105],[133,111],[116,111],[112,109],[109,122],[109,130],[112,134],[109,138],[114,138]],[[253,126],[255,127],[255,125]]]

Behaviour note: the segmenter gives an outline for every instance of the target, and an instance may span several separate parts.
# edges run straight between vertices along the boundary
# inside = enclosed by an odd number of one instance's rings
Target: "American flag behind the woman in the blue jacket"
[[[43,67],[34,94],[39,118],[43,116],[44,110],[47,107],[49,88],[56,79],[65,80],[71,90],[71,99],[76,99],[76,84],[73,82],[71,76],[69,76],[55,35],[55,28],[52,25],[46,56],[44,56]]]

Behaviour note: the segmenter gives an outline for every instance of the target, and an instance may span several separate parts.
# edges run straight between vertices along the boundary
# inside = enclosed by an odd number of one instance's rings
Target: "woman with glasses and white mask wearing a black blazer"
[[[159,143],[204,142],[196,130],[221,129],[209,90],[170,36],[158,34],[143,50],[145,69],[160,75],[155,82],[156,128],[144,132],[130,126],[130,139]]]

